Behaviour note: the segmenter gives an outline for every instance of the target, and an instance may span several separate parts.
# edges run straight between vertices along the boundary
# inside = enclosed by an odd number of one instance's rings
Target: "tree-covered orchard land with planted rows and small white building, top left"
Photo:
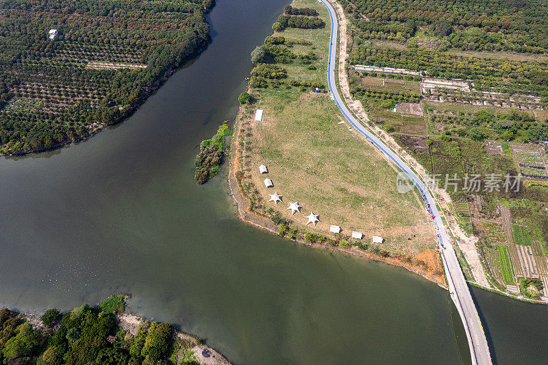
[[[1,1],[0,153],[49,149],[120,121],[207,44],[213,5]]]

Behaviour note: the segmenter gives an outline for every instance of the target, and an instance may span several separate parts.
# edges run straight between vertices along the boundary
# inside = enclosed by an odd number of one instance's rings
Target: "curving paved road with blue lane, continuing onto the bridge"
[[[432,198],[432,195],[429,193],[423,181],[411,170],[411,168],[399,158],[399,156],[392,151],[382,140],[377,138],[372,134],[368,129],[363,127],[349,112],[347,106],[343,102],[343,99],[340,98],[338,90],[336,89],[335,83],[335,66],[336,66],[336,45],[337,45],[337,32],[338,32],[338,22],[336,18],[336,12],[333,9],[332,5],[329,4],[326,0],[319,0],[327,10],[329,10],[329,16],[331,17],[331,46],[329,47],[329,69],[328,69],[328,82],[329,82],[329,91],[331,91],[332,96],[335,102],[338,105],[338,108],[345,115],[347,120],[360,131],[361,134],[369,138],[376,147],[378,147],[382,152],[384,152],[388,157],[393,160],[402,171],[404,171],[412,182],[419,188],[421,194],[423,194],[423,199],[429,204],[434,216],[434,224],[438,231],[438,237],[440,238],[439,250],[445,266],[445,271],[447,273],[447,281],[449,283],[449,294],[451,294],[451,299],[455,303],[457,310],[462,319],[464,329],[466,330],[466,337],[468,338],[470,353],[472,357],[473,364],[492,364],[491,357],[489,353],[489,347],[485,337],[484,329],[482,327],[482,322],[479,320],[479,315],[474,305],[474,301],[471,297],[468,285],[464,280],[464,275],[462,275],[462,270],[458,264],[457,256],[453,250],[449,236],[445,231],[443,221],[441,220],[440,213],[436,208],[436,203]],[[393,181],[393,184],[396,182]]]

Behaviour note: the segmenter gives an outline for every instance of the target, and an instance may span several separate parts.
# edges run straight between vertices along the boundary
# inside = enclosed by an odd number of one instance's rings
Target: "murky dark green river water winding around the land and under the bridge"
[[[225,175],[195,183],[199,142],[234,117],[249,52],[288,2],[217,1],[212,44],[125,123],[0,160],[0,305],[69,310],[129,292],[129,312],[236,364],[470,361],[445,290],[247,227]],[[475,295],[499,364],[544,358],[547,308]]]

